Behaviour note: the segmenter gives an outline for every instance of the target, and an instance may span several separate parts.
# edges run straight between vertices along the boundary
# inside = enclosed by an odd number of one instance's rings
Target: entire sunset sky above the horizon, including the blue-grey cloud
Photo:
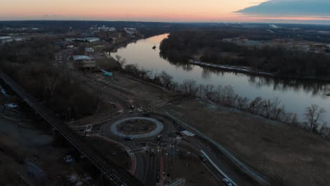
[[[330,24],[330,0],[0,0],[0,20]]]

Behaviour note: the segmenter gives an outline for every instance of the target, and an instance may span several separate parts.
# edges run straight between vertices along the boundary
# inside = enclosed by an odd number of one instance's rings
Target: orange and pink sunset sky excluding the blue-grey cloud
[[[233,13],[250,6],[257,6],[265,1],[267,0],[1,0],[0,20],[140,20],[165,22],[330,20],[324,16],[258,16]]]

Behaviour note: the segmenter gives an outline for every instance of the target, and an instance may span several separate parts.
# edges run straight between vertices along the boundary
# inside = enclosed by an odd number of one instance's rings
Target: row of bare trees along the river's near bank
[[[231,85],[218,87],[214,85],[197,85],[195,80],[183,80],[181,84],[178,84],[177,82],[173,82],[173,77],[164,71],[161,73],[154,73],[152,70],[139,68],[136,64],[126,65],[123,70],[147,82],[152,82],[169,90],[181,92],[181,94],[187,97],[209,99],[216,104],[293,125],[326,138],[330,137],[330,130],[326,127],[326,123],[323,120],[326,110],[316,105],[308,106],[305,109],[306,120],[305,122],[300,122],[297,113],[286,111],[278,98],[264,99],[262,97],[256,97],[250,100],[247,99],[247,97],[241,97],[236,94]]]

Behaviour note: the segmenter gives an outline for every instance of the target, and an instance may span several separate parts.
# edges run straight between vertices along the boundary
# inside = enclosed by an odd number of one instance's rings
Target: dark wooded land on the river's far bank
[[[213,31],[174,32],[161,42],[161,55],[186,63],[198,55],[203,62],[246,66],[281,77],[329,78],[330,56],[277,46],[239,46],[223,42],[224,35]]]

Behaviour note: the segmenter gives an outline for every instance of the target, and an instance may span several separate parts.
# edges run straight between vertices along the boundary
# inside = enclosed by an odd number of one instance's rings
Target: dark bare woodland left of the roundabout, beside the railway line
[[[94,94],[68,70],[56,66],[51,38],[5,44],[0,47],[0,68],[61,118],[82,118],[94,113]]]

